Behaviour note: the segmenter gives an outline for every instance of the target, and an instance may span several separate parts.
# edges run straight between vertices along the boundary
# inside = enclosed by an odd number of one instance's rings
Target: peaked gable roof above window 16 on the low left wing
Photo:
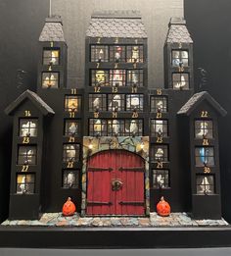
[[[23,104],[24,100],[30,100],[36,108],[38,108],[44,116],[54,115],[54,110],[49,107],[35,92],[25,90],[15,101],[13,101],[6,109],[7,115],[13,115],[14,111]]]

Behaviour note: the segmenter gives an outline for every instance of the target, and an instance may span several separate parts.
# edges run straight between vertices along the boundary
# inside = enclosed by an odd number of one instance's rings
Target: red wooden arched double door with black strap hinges
[[[125,150],[102,151],[87,165],[87,215],[144,215],[144,160]]]

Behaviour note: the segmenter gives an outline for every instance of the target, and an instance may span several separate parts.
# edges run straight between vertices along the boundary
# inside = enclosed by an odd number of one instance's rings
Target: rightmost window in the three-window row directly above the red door
[[[125,136],[142,136],[143,120],[125,120]]]

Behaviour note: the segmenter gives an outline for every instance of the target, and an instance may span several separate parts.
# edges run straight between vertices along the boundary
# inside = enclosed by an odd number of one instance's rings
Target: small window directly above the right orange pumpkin
[[[169,187],[169,171],[168,170],[153,170],[153,187],[168,188]]]

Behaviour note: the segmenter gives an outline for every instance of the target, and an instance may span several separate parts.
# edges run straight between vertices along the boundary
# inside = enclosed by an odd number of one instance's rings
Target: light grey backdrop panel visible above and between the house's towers
[[[170,17],[183,16],[183,0],[53,0],[69,46],[69,86],[83,87],[85,31],[94,10],[140,10],[148,32],[149,86],[163,87],[163,44]]]

